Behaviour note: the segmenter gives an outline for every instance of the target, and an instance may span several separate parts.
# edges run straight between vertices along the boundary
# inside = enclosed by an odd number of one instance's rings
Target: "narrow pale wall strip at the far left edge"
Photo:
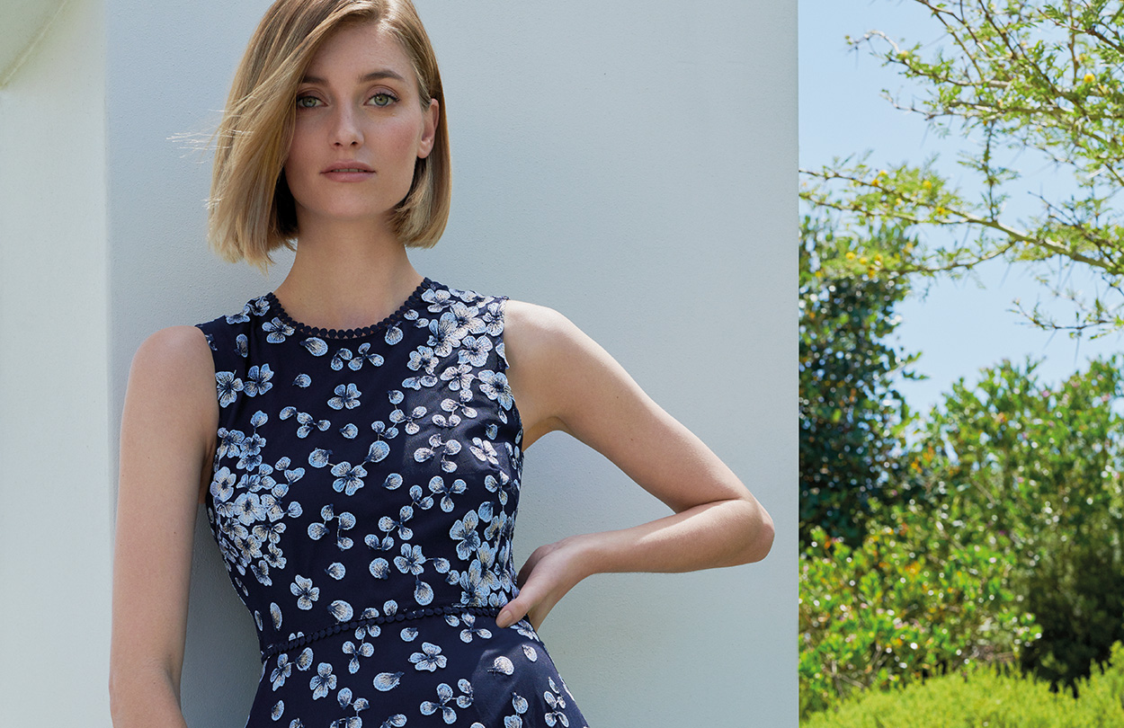
[[[101,2],[72,0],[0,89],[0,726],[109,710],[103,137]]]

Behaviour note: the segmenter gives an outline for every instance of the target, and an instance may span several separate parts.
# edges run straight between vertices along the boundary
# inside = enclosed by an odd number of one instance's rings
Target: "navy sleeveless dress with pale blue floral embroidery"
[[[586,726],[531,625],[495,619],[523,461],[505,301],[426,279],[361,329],[272,293],[198,325],[207,516],[263,661],[247,726]]]

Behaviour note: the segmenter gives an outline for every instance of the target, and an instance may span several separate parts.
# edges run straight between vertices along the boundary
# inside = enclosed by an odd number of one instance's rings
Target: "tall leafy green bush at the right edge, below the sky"
[[[1010,589],[1042,630],[1024,665],[1072,685],[1124,640],[1124,394],[1121,362],[1093,362],[1061,386],[1004,362],[953,386],[923,444],[918,507],[962,544],[1005,546]]]

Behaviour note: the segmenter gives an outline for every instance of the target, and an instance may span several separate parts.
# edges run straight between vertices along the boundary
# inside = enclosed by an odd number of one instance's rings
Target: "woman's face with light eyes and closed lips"
[[[284,174],[298,228],[389,224],[437,125],[437,101],[422,104],[398,39],[372,22],[336,30],[312,57],[296,106]]]

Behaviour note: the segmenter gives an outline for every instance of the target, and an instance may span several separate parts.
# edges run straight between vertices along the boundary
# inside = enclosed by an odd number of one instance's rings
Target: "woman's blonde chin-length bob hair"
[[[265,12],[230,87],[215,133],[208,238],[230,262],[265,270],[270,253],[293,248],[297,212],[284,179],[297,88],[320,44],[345,26],[375,22],[395,35],[414,66],[423,107],[438,103],[433,151],[414,167],[414,182],[393,212],[405,245],[429,247],[445,229],[450,207],[445,94],[429,37],[410,0],[278,0]]]

